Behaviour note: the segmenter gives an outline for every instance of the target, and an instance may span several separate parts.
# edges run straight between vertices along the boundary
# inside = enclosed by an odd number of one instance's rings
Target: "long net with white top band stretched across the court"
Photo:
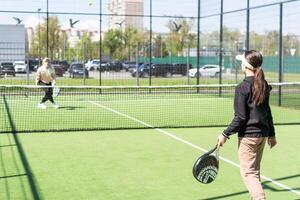
[[[273,83],[275,124],[300,124],[300,83]],[[38,104],[41,86],[0,86],[0,132],[227,126],[236,85],[71,87]],[[15,129],[15,130],[14,130]]]

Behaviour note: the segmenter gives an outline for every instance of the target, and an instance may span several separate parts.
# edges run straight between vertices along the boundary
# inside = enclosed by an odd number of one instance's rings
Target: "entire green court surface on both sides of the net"
[[[125,100],[61,95],[57,110],[50,105],[39,110],[38,96],[6,95],[1,127],[12,133],[0,134],[0,199],[249,199],[239,175],[236,136],[220,150],[213,183],[201,184],[192,175],[194,161],[216,144],[232,115],[232,99],[212,94]],[[277,123],[299,120],[297,109],[274,105],[272,111]],[[209,127],[179,128],[196,123]],[[99,125],[132,129],[77,130]],[[76,131],[68,131],[72,128]],[[299,199],[300,126],[275,128],[278,146],[266,146],[262,161],[267,198]]]

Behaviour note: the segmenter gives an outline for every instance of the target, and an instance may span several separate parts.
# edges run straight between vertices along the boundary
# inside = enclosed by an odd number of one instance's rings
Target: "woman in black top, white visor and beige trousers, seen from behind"
[[[269,105],[271,87],[261,69],[262,55],[246,51],[237,56],[242,61],[245,79],[235,90],[234,118],[226,130],[218,137],[218,147],[222,147],[230,135],[238,133],[238,154],[240,172],[252,199],[263,200],[265,194],[260,183],[260,162],[265,142],[270,147],[277,143]]]

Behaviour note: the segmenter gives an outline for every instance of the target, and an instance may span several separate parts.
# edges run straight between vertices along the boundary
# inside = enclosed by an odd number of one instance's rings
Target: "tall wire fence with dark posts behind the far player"
[[[44,57],[60,85],[237,83],[246,49],[268,81],[300,80],[299,0],[0,3],[0,84],[34,84]]]

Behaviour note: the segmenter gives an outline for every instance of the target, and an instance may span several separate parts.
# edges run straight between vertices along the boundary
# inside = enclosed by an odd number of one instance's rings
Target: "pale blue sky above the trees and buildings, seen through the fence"
[[[102,0],[102,11],[108,14],[107,1]],[[49,11],[59,17],[62,28],[69,28],[69,18],[80,20],[76,24],[77,29],[99,30],[100,0],[49,0]],[[154,16],[184,16],[197,17],[198,0],[153,0],[152,14]],[[220,0],[201,1],[201,16],[219,13]],[[246,7],[246,0],[224,0],[224,12],[242,9]],[[280,0],[250,0],[250,6],[259,6],[267,3],[280,2]],[[37,10],[41,8],[40,15]],[[284,4],[284,30],[283,32],[300,35],[300,1]],[[14,11],[14,12],[10,12]],[[17,12],[15,12],[17,11]],[[23,13],[23,12],[31,13]],[[0,0],[0,24],[15,24],[13,17],[23,20],[26,27],[36,27],[39,19],[45,17],[46,0]],[[68,13],[68,14],[62,14]],[[85,13],[76,15],[70,13]],[[144,1],[144,14],[150,14],[150,1]],[[40,17],[39,17],[40,16]],[[103,16],[103,30],[107,29],[106,16]],[[153,18],[154,32],[168,32],[166,24],[171,18]],[[245,32],[246,12],[238,12],[224,15],[224,25]],[[144,18],[144,26],[149,29],[149,18]],[[201,20],[202,32],[211,32],[219,29],[219,16],[208,17]],[[263,33],[266,30],[278,30],[279,28],[279,6],[270,6],[251,11],[251,30]],[[197,30],[196,21],[193,30]]]

